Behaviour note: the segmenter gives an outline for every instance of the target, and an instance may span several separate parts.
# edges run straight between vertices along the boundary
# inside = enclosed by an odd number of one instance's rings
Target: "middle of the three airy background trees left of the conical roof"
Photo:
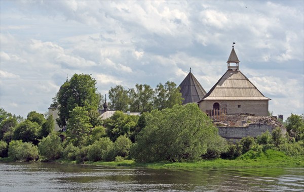
[[[130,111],[149,112],[153,109],[154,91],[147,84],[136,84],[134,88],[129,89]]]

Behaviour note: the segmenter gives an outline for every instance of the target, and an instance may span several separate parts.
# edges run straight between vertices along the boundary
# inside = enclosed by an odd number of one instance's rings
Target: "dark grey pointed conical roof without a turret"
[[[181,96],[184,98],[182,104],[197,103],[202,100],[206,94],[202,85],[191,72],[188,73],[179,87]]]

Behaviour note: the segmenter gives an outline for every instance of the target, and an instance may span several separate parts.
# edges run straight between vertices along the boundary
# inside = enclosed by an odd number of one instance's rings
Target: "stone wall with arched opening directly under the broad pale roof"
[[[199,103],[199,107],[203,112],[206,112],[206,110],[213,110],[214,103],[219,103],[220,109],[226,109],[227,114],[268,115],[268,100],[205,100]]]

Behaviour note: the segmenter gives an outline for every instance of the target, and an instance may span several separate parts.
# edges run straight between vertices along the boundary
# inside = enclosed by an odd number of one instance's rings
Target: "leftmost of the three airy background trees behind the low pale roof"
[[[127,111],[129,110],[129,95],[128,90],[126,90],[122,85],[117,85],[111,87],[109,90],[109,108],[117,111]]]

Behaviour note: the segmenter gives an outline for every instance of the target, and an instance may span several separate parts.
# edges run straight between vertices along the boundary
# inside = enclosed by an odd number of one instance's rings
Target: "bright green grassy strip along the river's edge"
[[[0,162],[13,162],[10,158],[0,158]],[[77,164],[76,161],[59,159],[51,163]],[[178,169],[178,170],[198,170],[198,169],[220,169],[220,168],[274,168],[274,167],[304,167],[304,157],[289,157],[277,151],[270,151],[266,156],[249,158],[241,156],[234,160],[213,159],[196,162],[157,162],[157,163],[137,163],[133,160],[122,160],[112,162],[91,162],[86,161],[86,165],[100,165],[110,167],[142,167],[149,169]]]

